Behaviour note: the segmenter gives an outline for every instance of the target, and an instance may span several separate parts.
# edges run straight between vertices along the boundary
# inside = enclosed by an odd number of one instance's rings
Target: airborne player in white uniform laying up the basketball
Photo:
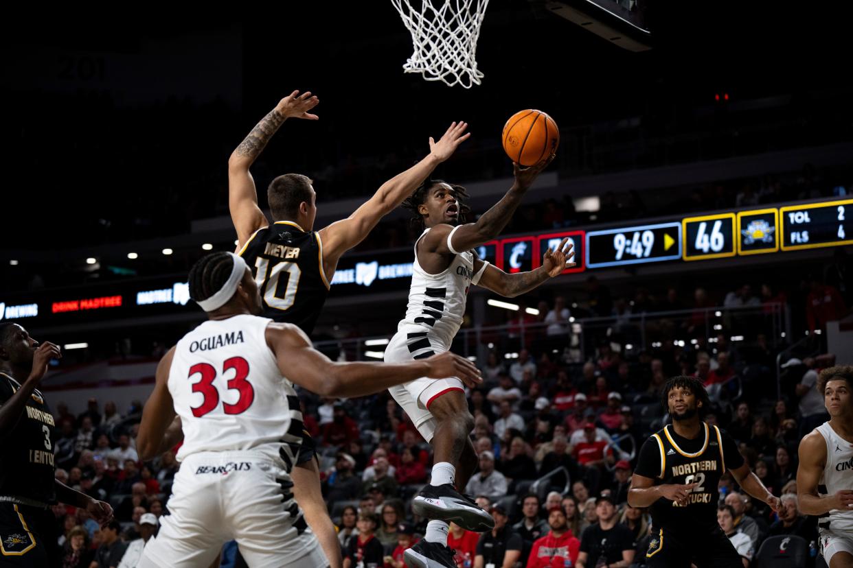
[[[467,193],[461,186],[427,180],[404,202],[415,213],[415,221],[425,228],[415,243],[409,306],[386,348],[387,362],[419,360],[447,352],[462,323],[471,284],[515,296],[574,266],[566,263],[566,254],[573,256],[571,247],[563,250],[568,239],[556,250],[545,253],[542,267],[527,273],[504,273],[473,253],[474,248],[500,234],[551,159],[553,156],[527,169],[516,165],[512,188],[473,223],[457,224],[467,210],[463,203]],[[468,438],[474,421],[462,382],[452,376],[440,381],[419,378],[392,387],[389,392],[435,451],[431,484],[412,502],[415,513],[432,520],[421,542],[406,550],[406,562],[421,568],[455,568],[453,550],[447,546],[448,523],[454,521],[468,531],[480,532],[494,526],[490,513],[456,491],[456,487],[465,487],[477,464]]]

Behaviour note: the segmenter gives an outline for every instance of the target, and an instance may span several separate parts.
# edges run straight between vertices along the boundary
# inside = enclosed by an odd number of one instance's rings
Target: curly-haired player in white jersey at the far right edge
[[[829,568],[853,567],[853,366],[821,370],[816,385],[829,422],[800,442],[799,508],[818,519],[821,554]]]

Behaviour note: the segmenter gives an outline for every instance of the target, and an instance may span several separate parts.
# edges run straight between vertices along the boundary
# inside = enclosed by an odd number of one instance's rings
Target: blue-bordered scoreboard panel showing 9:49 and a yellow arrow
[[[681,257],[682,224],[679,222],[586,233],[586,266],[589,268],[676,261]]]

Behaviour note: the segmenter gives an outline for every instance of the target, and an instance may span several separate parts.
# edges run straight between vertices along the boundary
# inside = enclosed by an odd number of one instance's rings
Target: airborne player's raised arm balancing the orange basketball
[[[513,186],[509,188],[509,191],[500,201],[491,206],[491,209],[480,215],[477,221],[456,227],[456,232],[453,233],[451,239],[453,250],[450,250],[447,242],[448,234],[453,227],[437,225],[421,241],[427,252],[453,255],[462,250],[474,249],[480,244],[496,238],[503,231],[503,227],[506,227],[509,220],[512,219],[515,209],[518,209],[527,190],[531,188],[539,174],[548,167],[553,159],[554,154],[551,154],[547,159],[530,168],[522,168],[519,164],[513,164],[515,171]]]

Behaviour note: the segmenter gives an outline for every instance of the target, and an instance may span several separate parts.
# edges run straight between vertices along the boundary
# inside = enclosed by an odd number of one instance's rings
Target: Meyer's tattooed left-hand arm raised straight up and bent
[[[240,146],[231,152],[228,160],[228,204],[231,221],[237,230],[237,250],[246,244],[252,233],[269,225],[264,213],[258,208],[258,192],[249,172],[255,158],[264,151],[267,142],[287,118],[317,119],[316,114],[308,112],[319,102],[316,96],[311,96],[310,92],[297,95],[299,91],[293,91],[281,99],[276,108],[262,118]]]

